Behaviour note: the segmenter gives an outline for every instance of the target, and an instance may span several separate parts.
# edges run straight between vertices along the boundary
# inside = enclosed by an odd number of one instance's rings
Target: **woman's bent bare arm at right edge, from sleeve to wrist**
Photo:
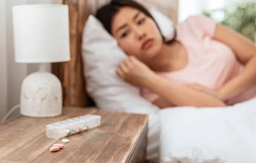
[[[238,60],[245,65],[238,76],[217,90],[221,99],[227,100],[256,85],[256,46],[246,37],[220,24],[216,25],[214,39],[233,49]]]

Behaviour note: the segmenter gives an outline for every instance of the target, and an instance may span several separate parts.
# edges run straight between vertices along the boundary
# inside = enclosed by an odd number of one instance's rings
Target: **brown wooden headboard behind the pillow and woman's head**
[[[149,8],[155,8],[177,23],[178,0],[136,0]],[[53,63],[52,73],[62,84],[64,106],[90,106],[90,98],[85,92],[86,81],[83,75],[81,42],[84,24],[89,14],[109,3],[110,0],[63,0],[69,6],[71,60],[66,63]]]

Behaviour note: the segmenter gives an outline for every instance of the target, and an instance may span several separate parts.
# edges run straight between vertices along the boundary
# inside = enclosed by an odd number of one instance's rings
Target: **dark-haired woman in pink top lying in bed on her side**
[[[160,108],[256,97],[256,47],[215,21],[190,16],[166,40],[151,14],[131,0],[112,0],[96,17],[130,56],[116,73]]]

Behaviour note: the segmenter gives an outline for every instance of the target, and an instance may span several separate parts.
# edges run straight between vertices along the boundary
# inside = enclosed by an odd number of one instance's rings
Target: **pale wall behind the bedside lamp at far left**
[[[0,120],[15,105],[20,103],[20,88],[23,79],[38,71],[38,64],[15,63],[12,7],[25,4],[61,4],[62,0],[0,0]],[[50,64],[47,71],[51,71]],[[19,114],[16,109],[10,117]]]

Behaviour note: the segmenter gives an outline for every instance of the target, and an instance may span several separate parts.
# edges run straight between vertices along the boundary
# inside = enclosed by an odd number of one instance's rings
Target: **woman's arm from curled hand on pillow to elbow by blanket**
[[[126,82],[140,87],[145,87],[159,94],[168,103],[158,103],[161,108],[171,106],[226,106],[220,99],[197,91],[186,85],[171,82],[148,68],[144,63],[131,56],[124,60],[116,69],[117,74]],[[170,107],[170,106],[169,106]]]

